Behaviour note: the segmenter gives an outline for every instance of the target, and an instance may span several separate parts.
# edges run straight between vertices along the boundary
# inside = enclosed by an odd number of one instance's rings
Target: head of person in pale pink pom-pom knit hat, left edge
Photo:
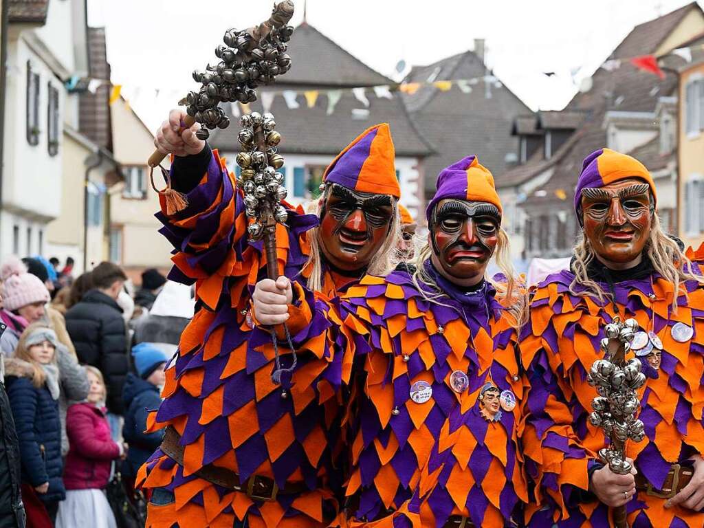
[[[12,356],[23,330],[44,317],[44,306],[51,296],[42,280],[27,273],[26,266],[17,257],[5,260],[0,275],[3,298],[1,318],[7,325],[0,337],[0,349],[6,356]]]

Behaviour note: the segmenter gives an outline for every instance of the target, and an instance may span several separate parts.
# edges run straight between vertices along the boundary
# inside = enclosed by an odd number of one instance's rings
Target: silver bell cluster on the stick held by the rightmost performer
[[[613,363],[608,357],[608,345],[611,339],[617,339],[624,350],[629,351],[638,328],[638,322],[634,319],[606,325],[606,337],[601,340],[605,359],[596,360],[586,377],[599,394],[592,401],[593,412],[589,415],[589,422],[621,443],[627,440],[639,442],[645,436],[643,422],[636,420],[635,415],[641,405],[636,391],[645,384],[646,375],[641,372],[639,359],[632,358],[625,365]],[[601,449],[599,457],[615,473],[627,474],[631,471],[631,464],[624,459],[622,451],[613,446]]]

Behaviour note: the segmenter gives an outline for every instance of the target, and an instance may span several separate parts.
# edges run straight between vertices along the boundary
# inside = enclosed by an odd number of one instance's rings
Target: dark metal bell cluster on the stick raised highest
[[[290,25],[273,27],[258,42],[251,30],[227,30],[223,41],[215,48],[220,62],[206,71],[194,71],[193,78],[202,84],[198,92],[189,92],[184,99],[186,111],[202,127],[196,135],[208,139],[215,128],[227,128],[230,118],[219,108],[221,102],[251,103],[256,101],[256,87],[269,84],[277,75],[291,68],[286,53],[294,28]]]

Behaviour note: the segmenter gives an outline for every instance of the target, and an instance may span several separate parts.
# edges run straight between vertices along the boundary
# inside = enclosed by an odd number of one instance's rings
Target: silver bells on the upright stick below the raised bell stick
[[[263,210],[271,210],[279,223],[288,218],[286,208],[280,203],[287,196],[284,175],[278,172],[284,166],[284,158],[277,154],[281,134],[274,130],[276,121],[270,113],[242,115],[239,124],[242,127],[238,134],[242,151],[237,154],[237,165],[241,168],[237,187],[244,191],[247,218],[256,220],[248,227],[249,236],[258,239],[264,232]],[[265,151],[256,144],[256,134],[262,134]]]

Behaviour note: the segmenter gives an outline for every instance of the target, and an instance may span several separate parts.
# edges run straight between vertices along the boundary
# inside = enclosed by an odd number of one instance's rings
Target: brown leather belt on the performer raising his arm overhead
[[[178,465],[183,466],[184,446],[179,444],[181,435],[170,425],[166,427],[164,439],[161,442],[161,451],[172,458]],[[239,475],[225,467],[213,464],[204,465],[194,472],[197,477],[207,480],[210,484],[222,486],[226,489],[241,491],[249,498],[256,501],[276,501],[278,494],[296,495],[310,491],[303,482],[287,482],[286,486],[279,488],[274,479],[253,474],[241,482]]]

